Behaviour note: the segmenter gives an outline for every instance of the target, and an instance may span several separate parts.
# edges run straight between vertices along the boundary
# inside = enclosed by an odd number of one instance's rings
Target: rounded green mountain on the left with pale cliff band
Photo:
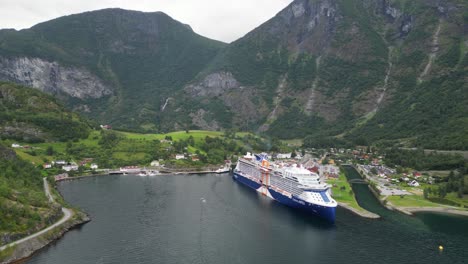
[[[165,100],[223,46],[161,12],[105,9],[0,31],[0,79],[101,122],[154,130]]]

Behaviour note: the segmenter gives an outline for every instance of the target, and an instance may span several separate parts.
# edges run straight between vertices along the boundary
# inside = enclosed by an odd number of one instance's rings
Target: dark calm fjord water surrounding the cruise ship
[[[467,263],[467,218],[405,216],[381,207],[365,185],[353,188],[382,219],[338,208],[330,225],[262,197],[228,174],[63,182],[65,199],[92,221],[26,262]]]

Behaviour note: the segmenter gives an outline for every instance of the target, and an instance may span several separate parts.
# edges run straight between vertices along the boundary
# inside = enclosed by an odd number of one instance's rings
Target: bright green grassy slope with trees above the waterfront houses
[[[162,141],[168,138],[171,142]],[[11,143],[22,144],[7,142]],[[237,152],[252,151],[252,148],[264,151],[263,148],[267,145],[268,142],[264,139],[245,132],[234,134],[190,130],[167,134],[138,134],[94,130],[86,139],[29,144],[29,148],[17,148],[15,151],[20,157],[36,165],[53,160],[78,162],[84,158],[93,158],[93,162],[100,168],[113,168],[127,165],[148,166],[152,160],[170,161],[175,154],[184,152],[206,157],[201,163],[219,164],[224,158],[238,154]],[[52,155],[47,151],[50,148],[53,149]],[[191,162],[188,159],[184,161],[189,167],[200,166],[200,162]]]

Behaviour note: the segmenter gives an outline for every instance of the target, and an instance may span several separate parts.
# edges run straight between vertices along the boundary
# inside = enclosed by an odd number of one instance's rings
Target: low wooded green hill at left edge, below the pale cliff
[[[86,138],[90,124],[36,89],[0,82],[0,139],[21,142]]]

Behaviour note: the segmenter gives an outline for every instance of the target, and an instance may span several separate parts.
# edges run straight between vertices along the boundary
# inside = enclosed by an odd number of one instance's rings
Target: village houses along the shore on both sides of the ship
[[[109,130],[109,127],[103,127]],[[219,154],[216,162],[207,160],[207,155],[193,150],[190,142],[181,144],[181,141],[173,141],[166,136],[158,139],[164,158],[141,162],[135,159],[133,164],[123,166],[106,166],[99,164],[97,159],[91,157],[78,160],[53,159],[43,162],[40,166],[45,175],[54,176],[55,180],[66,180],[81,175],[108,175],[108,174],[137,174],[141,176],[167,174],[191,174],[191,173],[221,173],[231,170],[240,153]],[[205,139],[207,140],[207,139]],[[36,151],[37,147],[21,146],[18,143],[11,145],[15,149],[23,151]],[[317,173],[323,181],[329,182],[334,187],[342,180],[340,178],[341,166],[352,165],[370,186],[382,197],[391,196],[422,196],[424,189],[435,185],[440,178],[428,172],[418,171],[401,166],[389,166],[386,164],[386,154],[371,149],[367,146],[355,147],[353,149],[329,148],[329,149],[303,149],[291,147],[289,152],[267,152],[264,153],[268,159],[281,162],[286,165],[298,164],[305,169]],[[37,150],[41,151],[41,150]],[[43,151],[43,150],[42,150]],[[179,152],[178,152],[179,151]],[[207,151],[208,152],[208,151]],[[205,152],[206,153],[206,152]],[[39,165],[39,164],[36,164]],[[343,178],[345,179],[345,178]],[[340,186],[340,188],[344,185]],[[348,185],[347,185],[348,186]],[[351,189],[351,187],[347,187]],[[437,188],[437,187],[435,187]]]

